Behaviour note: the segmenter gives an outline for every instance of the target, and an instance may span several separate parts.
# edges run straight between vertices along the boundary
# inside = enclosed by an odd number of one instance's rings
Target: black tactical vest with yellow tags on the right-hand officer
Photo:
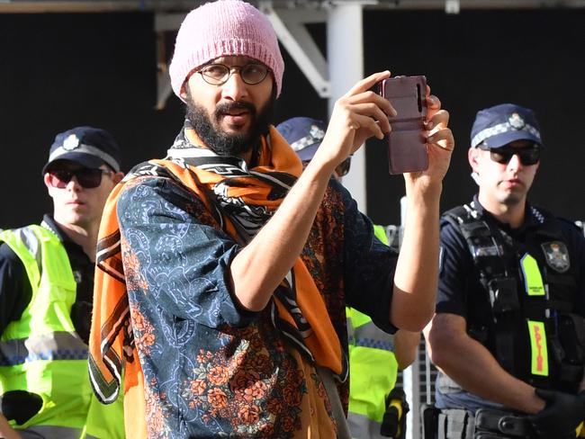
[[[574,393],[585,363],[576,273],[558,219],[531,209],[540,225],[522,243],[473,203],[443,216],[465,238],[491,305],[491,321],[468,322],[468,333],[519,379]]]

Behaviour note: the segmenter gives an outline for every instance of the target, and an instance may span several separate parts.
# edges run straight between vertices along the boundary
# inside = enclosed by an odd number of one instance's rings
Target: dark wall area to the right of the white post
[[[498,103],[536,111],[547,149],[530,198],[572,219],[585,219],[585,9],[365,13],[365,71],[426,75],[451,114],[456,149],[443,209],[471,199],[467,162],[475,113]],[[385,173],[383,144],[369,142],[368,212],[400,221],[401,177]],[[387,202],[390,200],[391,203]]]

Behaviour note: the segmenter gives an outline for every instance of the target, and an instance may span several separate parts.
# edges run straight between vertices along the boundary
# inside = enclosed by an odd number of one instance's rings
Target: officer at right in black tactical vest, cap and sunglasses
[[[436,315],[425,329],[448,437],[575,437],[585,419],[585,242],[527,202],[544,145],[534,112],[477,113],[479,193],[441,220]],[[433,437],[428,436],[427,437]]]

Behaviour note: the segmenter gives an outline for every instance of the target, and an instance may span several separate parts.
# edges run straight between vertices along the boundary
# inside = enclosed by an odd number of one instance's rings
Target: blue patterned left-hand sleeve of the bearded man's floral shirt
[[[135,256],[148,284],[145,299],[153,305],[208,327],[246,326],[257,313],[238,307],[229,284],[239,246],[219,227],[199,222],[193,212],[202,211],[201,200],[170,180],[139,178],[118,202],[122,242]]]

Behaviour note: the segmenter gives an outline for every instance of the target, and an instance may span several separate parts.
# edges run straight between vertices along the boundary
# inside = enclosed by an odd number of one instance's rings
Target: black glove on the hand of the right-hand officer
[[[542,438],[575,437],[575,428],[585,419],[585,394],[536,389],[546,406],[529,417],[535,434]]]

